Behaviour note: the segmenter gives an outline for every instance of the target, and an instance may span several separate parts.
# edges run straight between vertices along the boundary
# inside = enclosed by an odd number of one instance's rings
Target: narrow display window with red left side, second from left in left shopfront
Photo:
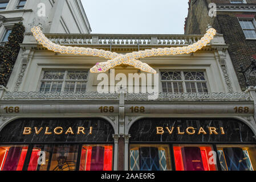
[[[47,171],[51,152],[50,146],[34,146],[27,171]]]

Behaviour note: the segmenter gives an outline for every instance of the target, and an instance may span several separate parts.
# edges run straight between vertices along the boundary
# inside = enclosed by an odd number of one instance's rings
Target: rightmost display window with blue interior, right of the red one
[[[256,169],[254,145],[218,145],[217,150],[222,171],[254,171]]]

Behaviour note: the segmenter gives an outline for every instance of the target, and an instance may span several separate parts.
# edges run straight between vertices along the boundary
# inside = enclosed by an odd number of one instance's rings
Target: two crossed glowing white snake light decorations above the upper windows
[[[145,51],[131,52],[123,55],[116,52],[105,51],[103,49],[60,46],[59,44],[51,42],[51,40],[49,40],[40,30],[40,27],[33,27],[31,31],[35,39],[50,51],[62,54],[104,57],[105,59],[108,59],[108,61],[97,63],[92,67],[90,69],[92,73],[107,72],[109,69],[115,68],[121,64],[130,65],[144,72],[156,73],[155,69],[151,68],[147,63],[142,63],[139,59],[144,57],[180,55],[183,53],[189,54],[196,52],[197,50],[207,46],[207,44],[209,44],[213,39],[214,35],[216,35],[216,30],[214,28],[209,28],[206,31],[206,34],[198,42],[189,46],[145,49]]]

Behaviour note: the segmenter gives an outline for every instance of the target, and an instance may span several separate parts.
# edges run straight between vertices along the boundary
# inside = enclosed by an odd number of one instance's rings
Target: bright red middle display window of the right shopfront
[[[212,151],[211,145],[175,144],[173,153],[176,171],[217,171],[216,164],[209,163],[210,158],[214,157]]]

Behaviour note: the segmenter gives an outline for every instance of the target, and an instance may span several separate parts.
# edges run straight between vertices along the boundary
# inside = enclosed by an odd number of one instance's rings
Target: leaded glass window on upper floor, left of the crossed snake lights
[[[40,92],[86,92],[87,71],[44,71]]]

